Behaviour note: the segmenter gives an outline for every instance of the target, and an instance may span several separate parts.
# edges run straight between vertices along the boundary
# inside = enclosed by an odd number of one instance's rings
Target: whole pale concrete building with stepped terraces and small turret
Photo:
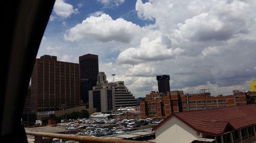
[[[89,91],[89,107],[105,113],[131,106],[137,106],[137,100],[125,87],[124,82],[108,83],[105,73],[99,72],[96,86]]]

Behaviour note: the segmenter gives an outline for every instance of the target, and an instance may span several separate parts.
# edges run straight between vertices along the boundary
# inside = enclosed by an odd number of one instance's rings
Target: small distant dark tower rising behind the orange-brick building
[[[157,75],[158,92],[167,94],[170,91],[170,76],[169,75]]]

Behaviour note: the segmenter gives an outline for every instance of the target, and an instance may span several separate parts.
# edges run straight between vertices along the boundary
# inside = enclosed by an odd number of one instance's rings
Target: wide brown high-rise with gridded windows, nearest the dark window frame
[[[31,76],[31,106],[35,111],[79,106],[79,64],[57,61],[57,56],[36,59]]]

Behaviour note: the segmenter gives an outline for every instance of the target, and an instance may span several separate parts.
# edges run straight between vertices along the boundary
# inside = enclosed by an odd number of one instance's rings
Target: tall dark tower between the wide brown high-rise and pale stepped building
[[[89,90],[96,86],[99,73],[98,55],[84,54],[79,56],[80,66],[80,99],[82,103],[89,102]]]

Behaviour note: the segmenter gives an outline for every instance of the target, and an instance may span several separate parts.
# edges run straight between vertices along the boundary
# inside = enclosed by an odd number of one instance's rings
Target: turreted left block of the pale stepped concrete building
[[[98,81],[93,90],[89,91],[89,108],[97,112],[111,113],[114,109],[115,88],[106,80],[104,72],[99,72]]]

